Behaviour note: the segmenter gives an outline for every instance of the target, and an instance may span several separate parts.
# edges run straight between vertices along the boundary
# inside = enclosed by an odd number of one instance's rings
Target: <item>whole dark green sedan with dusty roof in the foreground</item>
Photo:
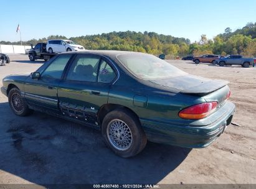
[[[201,148],[230,124],[227,81],[189,75],[154,55],[59,53],[31,75],[10,75],[1,91],[18,116],[32,110],[94,127],[121,157],[147,141]]]

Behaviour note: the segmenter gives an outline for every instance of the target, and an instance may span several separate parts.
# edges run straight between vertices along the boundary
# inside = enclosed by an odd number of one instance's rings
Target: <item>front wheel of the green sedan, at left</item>
[[[29,109],[26,101],[21,96],[21,91],[14,87],[9,91],[8,94],[9,105],[17,116],[28,116],[33,113],[32,109]]]

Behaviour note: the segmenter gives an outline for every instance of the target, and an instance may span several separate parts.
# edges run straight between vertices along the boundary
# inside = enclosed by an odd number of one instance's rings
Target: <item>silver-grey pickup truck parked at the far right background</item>
[[[229,55],[228,57],[217,59],[215,63],[220,67],[224,67],[224,65],[242,65],[242,67],[248,68],[254,64],[254,58],[244,58],[242,55]]]

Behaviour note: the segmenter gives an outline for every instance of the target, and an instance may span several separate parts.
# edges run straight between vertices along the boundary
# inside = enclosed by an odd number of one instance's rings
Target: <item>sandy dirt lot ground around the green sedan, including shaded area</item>
[[[0,67],[0,80],[44,63],[32,63],[27,55],[10,58]],[[100,132],[38,112],[15,116],[0,94],[0,183],[256,183],[256,68],[168,62],[194,75],[230,81],[237,126],[227,127],[205,149],[149,142],[136,157],[122,159],[105,146]]]

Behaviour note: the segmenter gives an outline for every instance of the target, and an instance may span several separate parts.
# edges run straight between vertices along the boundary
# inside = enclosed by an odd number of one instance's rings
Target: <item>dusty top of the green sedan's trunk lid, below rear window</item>
[[[224,80],[211,80],[195,75],[182,75],[174,78],[150,80],[156,86],[163,86],[170,91],[178,91],[186,94],[205,95],[222,88],[229,83]],[[173,89],[173,90],[172,90]]]

